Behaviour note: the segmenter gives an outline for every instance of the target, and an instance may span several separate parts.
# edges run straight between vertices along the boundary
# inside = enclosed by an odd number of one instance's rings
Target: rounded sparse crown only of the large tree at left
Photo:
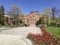
[[[19,6],[13,5],[13,6],[11,6],[8,14],[12,15],[12,16],[20,15],[20,14],[22,14],[22,11],[21,11],[21,8],[19,8]]]

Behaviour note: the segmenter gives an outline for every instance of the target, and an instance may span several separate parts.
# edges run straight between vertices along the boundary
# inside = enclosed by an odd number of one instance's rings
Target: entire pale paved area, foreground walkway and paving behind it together
[[[0,32],[0,45],[32,45],[27,39],[29,33],[42,35],[42,31],[38,27],[17,27]]]

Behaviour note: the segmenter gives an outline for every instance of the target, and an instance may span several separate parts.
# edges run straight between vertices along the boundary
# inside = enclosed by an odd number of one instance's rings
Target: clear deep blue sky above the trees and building
[[[21,8],[24,14],[31,11],[43,13],[46,8],[60,8],[60,0],[0,0],[0,6],[3,5],[5,12],[8,12],[12,5],[17,5]]]

